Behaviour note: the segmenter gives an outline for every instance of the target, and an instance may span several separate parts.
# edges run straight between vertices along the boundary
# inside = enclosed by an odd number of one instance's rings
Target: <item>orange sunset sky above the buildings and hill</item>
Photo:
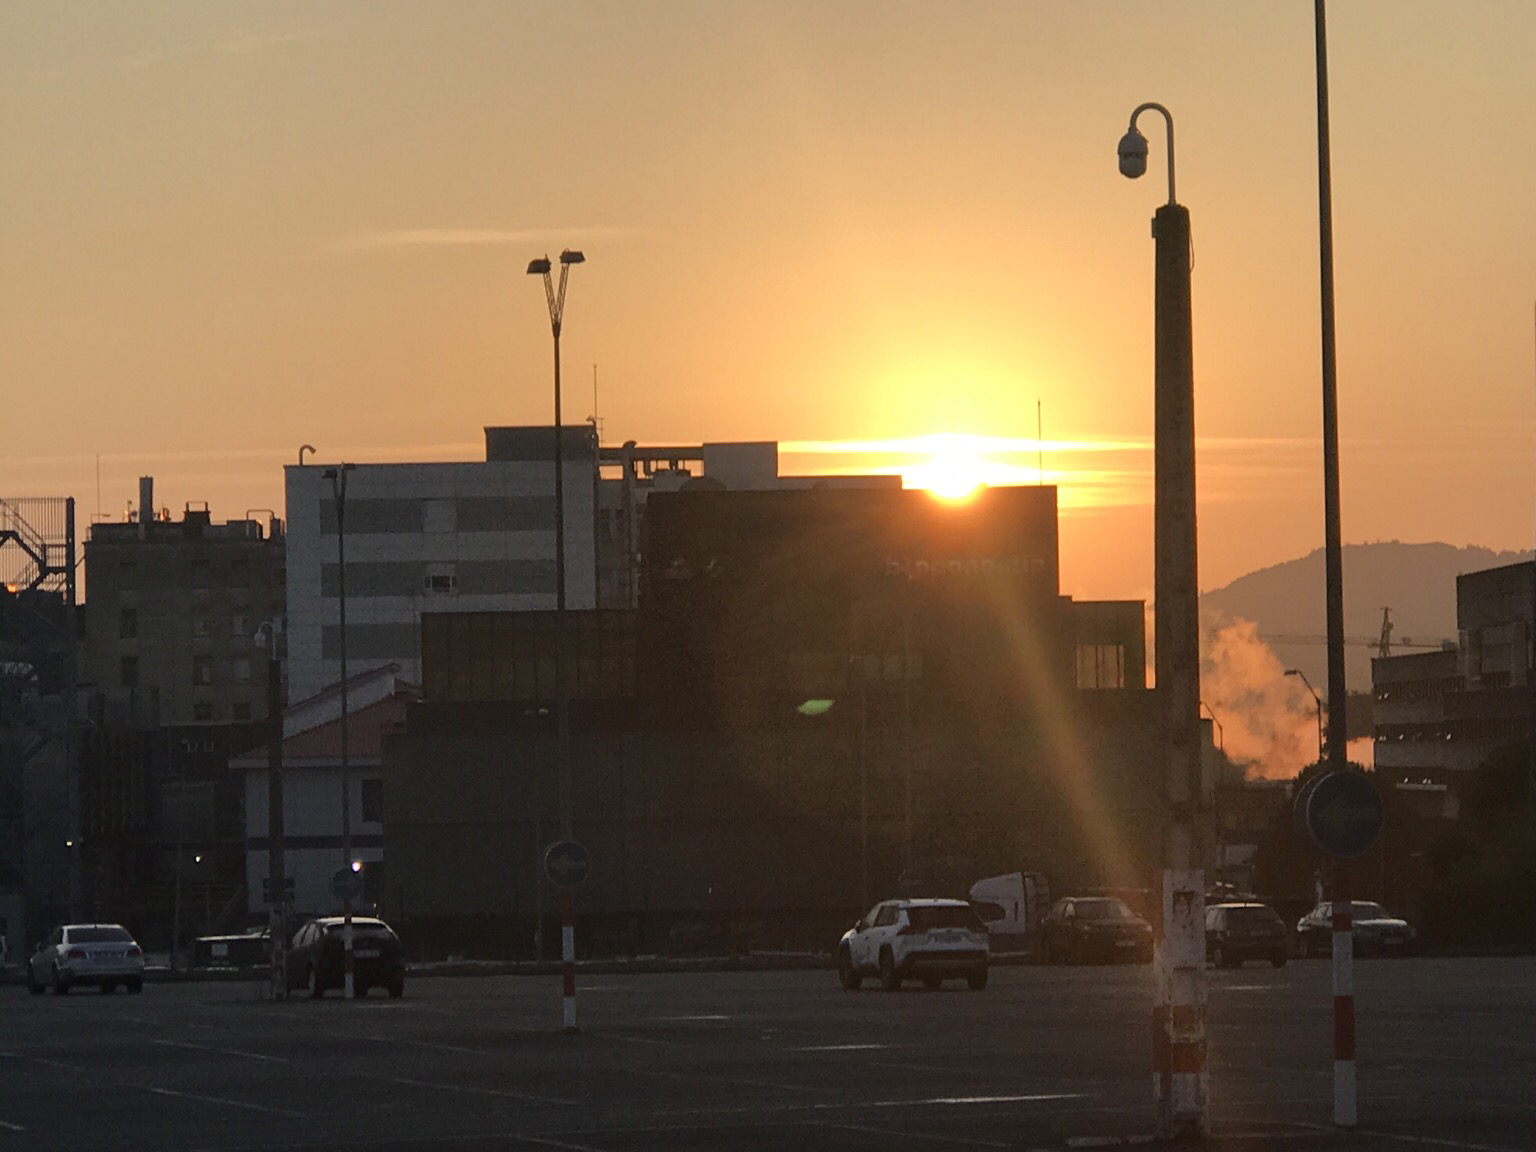
[[[1346,541],[1528,547],[1536,5],[1330,11]],[[1321,545],[1312,6],[77,0],[0,9],[0,495],[217,518],[550,419],[934,433],[1061,485],[1063,590],[1152,587],[1167,104],[1201,584]],[[889,449],[889,445],[885,445]],[[100,488],[97,461],[100,459]],[[98,496],[100,492],[100,496]]]

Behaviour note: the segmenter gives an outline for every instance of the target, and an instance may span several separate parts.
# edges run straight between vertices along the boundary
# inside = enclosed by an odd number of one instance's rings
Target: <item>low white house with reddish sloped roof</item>
[[[347,768],[341,762],[341,687],[290,705],[283,713],[283,874],[293,882],[293,909],[318,915],[336,909],[330,877],[344,866],[341,809],[347,805],[352,859],[361,863],[362,900],[376,903],[384,883],[384,771],[386,733],[396,730],[415,685],[399,679],[395,665],[347,677]],[[270,876],[267,823],[267,748],[230,760],[244,780],[246,900],[252,919],[266,909],[264,882]]]

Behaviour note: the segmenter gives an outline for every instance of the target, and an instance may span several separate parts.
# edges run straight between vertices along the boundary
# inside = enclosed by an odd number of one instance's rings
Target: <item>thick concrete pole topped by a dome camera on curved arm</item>
[[[1147,169],[1143,112],[1167,124],[1167,203],[1152,218],[1155,280],[1157,694],[1166,762],[1163,914],[1158,917],[1152,1046],[1158,1135],[1206,1129],[1206,880],[1200,851],[1200,585],[1195,550],[1195,370],[1189,209],[1174,197],[1174,117],[1138,104],[1120,140],[1120,172]]]

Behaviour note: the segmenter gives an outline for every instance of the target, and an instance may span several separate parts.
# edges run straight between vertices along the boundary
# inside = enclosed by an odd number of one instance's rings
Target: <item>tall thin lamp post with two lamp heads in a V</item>
[[[554,768],[558,773],[561,840],[571,839],[571,710],[565,691],[565,433],[561,427],[561,327],[565,319],[565,281],[571,264],[585,263],[581,252],[561,252],[561,283],[556,289],[548,257],[528,261],[528,275],[544,278],[554,336]],[[576,1032],[576,891],[561,886],[561,982],[564,1031]]]

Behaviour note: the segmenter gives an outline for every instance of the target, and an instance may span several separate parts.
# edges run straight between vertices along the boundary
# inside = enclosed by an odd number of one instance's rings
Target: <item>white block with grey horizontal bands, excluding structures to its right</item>
[[[596,604],[598,444],[564,429],[565,602]],[[556,604],[554,429],[485,429],[485,459],[346,470],[349,674],[396,664],[421,682],[421,616]],[[289,699],[341,679],[338,465],[286,468]]]

